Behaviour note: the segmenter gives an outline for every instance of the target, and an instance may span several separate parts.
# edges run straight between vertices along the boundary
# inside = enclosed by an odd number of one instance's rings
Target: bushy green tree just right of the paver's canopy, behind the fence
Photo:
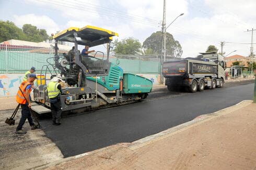
[[[123,39],[120,42],[116,40],[114,44],[115,48],[113,51],[117,54],[135,55],[139,53],[139,49],[141,48],[141,43],[133,37]]]

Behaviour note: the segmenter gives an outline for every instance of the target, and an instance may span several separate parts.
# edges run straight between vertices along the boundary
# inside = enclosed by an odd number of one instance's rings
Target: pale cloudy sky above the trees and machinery
[[[147,0],[0,0],[0,20],[46,29],[48,34],[68,27],[94,25],[119,33],[119,40],[137,38],[141,43],[160,31],[164,1]],[[182,57],[195,57],[209,45],[231,55],[250,54],[251,30],[256,29],[255,0],[167,0],[167,32],[179,41]],[[255,32],[256,33],[256,32]],[[255,39],[255,38],[254,38]],[[102,47],[96,47],[102,48]]]

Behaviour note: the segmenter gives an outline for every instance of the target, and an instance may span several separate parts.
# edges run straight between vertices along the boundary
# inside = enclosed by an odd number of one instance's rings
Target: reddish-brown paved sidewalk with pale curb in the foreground
[[[256,103],[202,115],[134,141],[37,169],[256,169]]]

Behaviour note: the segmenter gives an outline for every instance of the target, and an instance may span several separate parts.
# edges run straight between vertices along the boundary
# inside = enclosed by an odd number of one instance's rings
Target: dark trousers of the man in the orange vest
[[[20,104],[20,106],[21,106],[21,118],[19,120],[19,124],[18,124],[16,130],[21,130],[22,126],[26,122],[26,119],[28,119],[30,126],[34,125],[28,104]]]

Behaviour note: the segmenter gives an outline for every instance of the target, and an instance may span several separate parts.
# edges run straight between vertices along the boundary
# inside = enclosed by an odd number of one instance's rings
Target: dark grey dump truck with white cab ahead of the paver
[[[162,74],[169,91],[181,89],[192,93],[205,87],[214,89],[224,86],[226,63],[217,51],[200,53],[196,58],[174,59],[162,64]]]

